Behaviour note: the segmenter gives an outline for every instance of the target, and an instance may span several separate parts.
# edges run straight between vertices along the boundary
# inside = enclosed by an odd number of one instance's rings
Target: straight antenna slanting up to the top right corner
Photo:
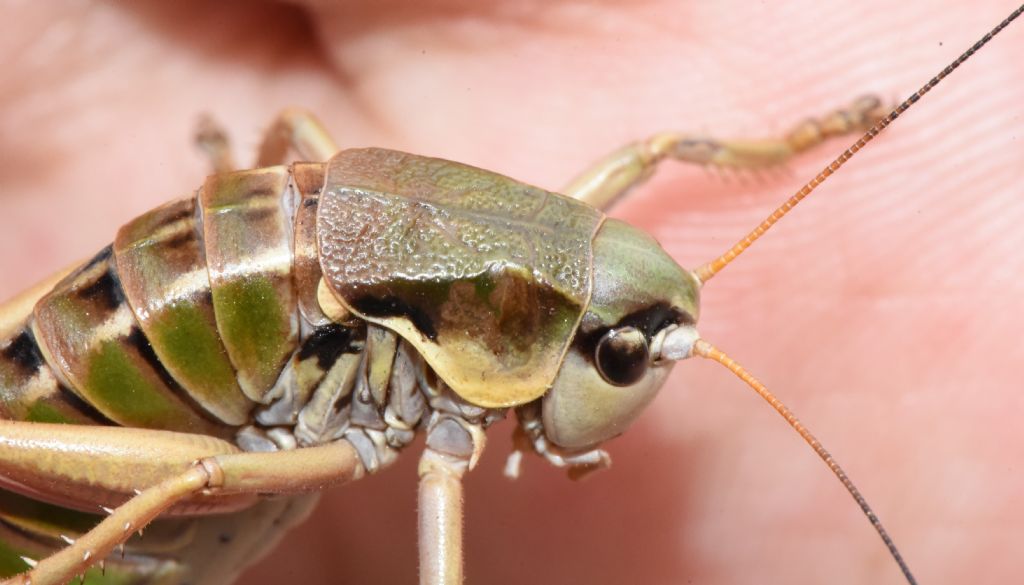
[[[955,70],[964,61],[969,59],[971,55],[973,55],[978,51],[978,49],[985,46],[985,44],[988,43],[988,41],[992,40],[992,37],[999,34],[999,32],[1002,31],[1002,29],[1007,28],[1007,26],[1010,25],[1010,23],[1012,23],[1015,18],[1017,18],[1017,16],[1020,16],[1021,12],[1024,12],[1024,5],[1021,5],[1016,10],[1014,10],[1012,14],[1007,16],[1005,20],[999,23],[987,35],[982,37],[981,40],[979,40],[977,43],[974,44],[974,46],[964,51],[964,54],[962,54],[961,56],[956,57],[956,60],[946,66],[945,69],[943,69],[938,75],[933,77],[913,95],[907,97],[902,103],[897,106],[896,109],[893,110],[888,116],[880,120],[877,124],[874,124],[874,126],[871,126],[871,128],[867,132],[865,132],[863,136],[861,136],[859,139],[857,139],[856,142],[853,143],[853,145],[843,151],[843,154],[837,157],[836,160],[833,161],[828,166],[826,166],[820,173],[818,173],[817,176],[815,176],[807,183],[805,183],[804,186],[801,187],[801,190],[798,191],[796,195],[787,199],[785,203],[783,203],[782,205],[778,206],[778,208],[776,208],[775,211],[771,213],[771,215],[766,217],[764,221],[762,221],[750,234],[743,237],[742,240],[736,242],[732,246],[732,248],[729,248],[729,250],[726,253],[722,254],[721,256],[715,258],[710,262],[700,265],[695,270],[693,270],[693,274],[696,275],[697,279],[701,283],[706,283],[709,280],[711,280],[712,277],[717,275],[722,268],[729,265],[730,262],[732,262],[734,259],[736,259],[737,256],[742,254],[744,250],[750,248],[751,245],[754,244],[754,242],[756,242],[759,238],[761,238],[761,236],[763,236],[765,232],[767,232],[772,225],[774,225],[775,222],[777,222],[779,219],[785,216],[785,214],[788,213],[790,210],[792,210],[794,207],[796,207],[798,203],[800,203],[805,197],[810,195],[811,192],[817,189],[819,184],[824,182],[824,180],[828,178],[834,172],[839,170],[840,167],[845,165],[847,161],[853,158],[853,155],[855,155],[857,151],[864,148],[864,145],[867,142],[870,142],[871,139],[879,134],[879,132],[881,132],[883,129],[885,129],[886,126],[891,124],[893,120],[899,118],[901,114],[903,114],[904,112],[906,112],[908,108],[910,108],[910,106],[915,103],[919,99],[922,98],[922,96],[931,91],[933,87],[938,85],[939,82],[942,81],[947,75],[952,73],[953,70]]]

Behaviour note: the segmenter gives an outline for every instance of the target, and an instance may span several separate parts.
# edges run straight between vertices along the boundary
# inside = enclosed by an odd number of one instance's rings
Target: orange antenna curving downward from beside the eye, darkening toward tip
[[[913,575],[910,573],[910,568],[906,566],[906,561],[903,560],[903,556],[899,553],[899,549],[896,548],[896,543],[893,542],[893,539],[889,536],[889,533],[886,532],[886,529],[882,527],[882,520],[880,520],[879,516],[876,515],[874,510],[871,509],[871,506],[867,505],[867,500],[865,500],[864,497],[860,495],[860,490],[858,490],[857,487],[853,485],[853,480],[851,480],[849,475],[846,474],[846,471],[844,471],[843,468],[840,467],[839,463],[831,456],[831,454],[828,453],[828,451],[825,450],[825,448],[821,445],[821,443],[813,434],[811,434],[811,431],[807,430],[807,427],[804,426],[802,422],[800,422],[800,419],[797,418],[797,415],[793,414],[793,411],[787,409],[785,405],[782,404],[781,401],[775,398],[775,394],[771,393],[771,391],[768,388],[766,388],[764,384],[759,382],[757,378],[752,376],[751,373],[744,370],[742,366],[735,363],[731,358],[726,356],[724,352],[722,352],[720,349],[718,349],[708,341],[703,339],[697,339],[693,343],[693,354],[700,356],[701,358],[707,358],[709,360],[713,360],[728,368],[740,380],[746,382],[749,386],[754,388],[754,391],[756,391],[758,394],[761,395],[761,398],[767,401],[767,403],[771,405],[773,409],[775,409],[775,412],[780,414],[782,418],[785,419],[785,422],[790,423],[790,426],[792,426],[798,433],[800,433],[800,436],[804,438],[807,445],[811,446],[811,449],[813,449],[814,452],[818,454],[818,457],[820,457],[821,460],[825,462],[825,465],[827,465],[828,468],[831,469],[833,473],[836,474],[836,477],[838,477],[839,480],[842,482],[843,487],[846,488],[846,491],[850,492],[850,495],[853,496],[853,499],[857,502],[857,505],[860,506],[860,509],[864,512],[864,515],[867,516],[867,520],[871,523],[871,526],[874,527],[874,530],[878,531],[879,536],[882,537],[882,542],[884,542],[886,548],[889,549],[889,553],[892,554],[893,558],[896,560],[896,565],[899,565],[899,569],[900,571],[903,572],[903,576],[906,577],[907,583],[910,583],[910,585],[916,585],[918,581],[913,578]]]

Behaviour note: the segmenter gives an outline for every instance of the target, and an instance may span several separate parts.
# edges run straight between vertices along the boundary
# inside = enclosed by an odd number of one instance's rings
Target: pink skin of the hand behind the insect
[[[785,131],[864,92],[902,97],[1013,2],[498,0],[6,2],[0,293],[91,255],[201,184],[217,117],[251,160],[276,111],[343,147],[460,160],[549,189],[665,129]],[[167,5],[165,5],[167,4]],[[700,330],[843,463],[924,583],[1019,578],[1024,535],[1024,23],[901,118],[705,290]],[[847,140],[785,172],[666,165],[613,215],[696,265]],[[466,484],[475,583],[899,583],[825,467],[710,363],[684,363],[572,483]],[[332,490],[245,583],[411,583],[416,454]]]

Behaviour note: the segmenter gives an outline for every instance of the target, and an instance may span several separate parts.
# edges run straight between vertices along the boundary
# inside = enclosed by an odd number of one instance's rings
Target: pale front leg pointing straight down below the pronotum
[[[462,476],[483,451],[483,429],[435,413],[420,458],[420,585],[462,584]]]

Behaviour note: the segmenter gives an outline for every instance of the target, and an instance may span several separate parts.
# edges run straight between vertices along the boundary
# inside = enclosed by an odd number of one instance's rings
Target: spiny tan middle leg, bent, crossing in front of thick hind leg
[[[271,453],[231,453],[206,457],[147,488],[113,510],[99,525],[59,552],[35,563],[28,574],[4,584],[58,585],[84,573],[135,531],[189,498],[244,494],[297,494],[356,479],[364,473],[347,441]]]

